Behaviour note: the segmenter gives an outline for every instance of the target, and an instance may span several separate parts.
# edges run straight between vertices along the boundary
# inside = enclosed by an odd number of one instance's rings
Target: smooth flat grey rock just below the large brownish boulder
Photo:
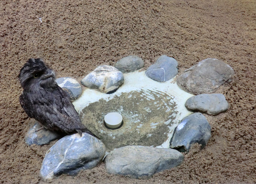
[[[187,99],[185,106],[189,110],[206,112],[209,115],[217,115],[228,109],[228,102],[222,94],[201,94]]]

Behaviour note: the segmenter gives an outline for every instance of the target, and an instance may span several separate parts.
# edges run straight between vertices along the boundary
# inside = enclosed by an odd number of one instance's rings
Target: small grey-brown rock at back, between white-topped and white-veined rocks
[[[127,56],[120,59],[116,64],[115,68],[123,73],[134,72],[143,68],[144,61],[138,56]]]

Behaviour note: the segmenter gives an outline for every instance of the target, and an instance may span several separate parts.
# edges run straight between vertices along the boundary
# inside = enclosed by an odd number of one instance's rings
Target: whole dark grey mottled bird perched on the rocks
[[[54,71],[42,59],[29,59],[20,70],[19,80],[24,89],[20,104],[30,118],[51,131],[90,133],[66,92],[55,82]]]

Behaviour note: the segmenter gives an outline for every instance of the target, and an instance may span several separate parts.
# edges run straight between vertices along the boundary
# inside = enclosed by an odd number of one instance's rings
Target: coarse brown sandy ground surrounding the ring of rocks
[[[235,71],[220,91],[230,108],[206,115],[207,147],[193,146],[180,166],[148,180],[109,175],[102,163],[52,183],[256,183],[255,13],[255,0],[0,1],[0,182],[44,183],[39,170],[53,145],[24,143],[34,120],[19,104],[17,76],[28,58],[41,57],[57,77],[80,81],[127,55],[142,57],[146,69],[165,54],[180,72],[208,57]]]

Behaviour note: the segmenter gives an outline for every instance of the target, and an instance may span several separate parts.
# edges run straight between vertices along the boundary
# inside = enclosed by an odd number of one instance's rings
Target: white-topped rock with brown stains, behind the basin
[[[97,89],[103,93],[112,93],[123,84],[123,73],[108,65],[98,66],[93,72],[82,79],[82,85]]]

